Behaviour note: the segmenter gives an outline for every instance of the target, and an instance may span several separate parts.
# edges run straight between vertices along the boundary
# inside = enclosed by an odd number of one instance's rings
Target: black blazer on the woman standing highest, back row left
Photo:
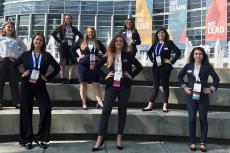
[[[71,26],[72,28],[72,32],[74,33],[73,36],[73,42],[75,42],[75,36],[77,35],[79,37],[79,39],[83,39],[82,34],[78,31],[78,29],[76,27]],[[52,32],[52,36],[54,37],[54,39],[59,42],[61,44],[61,46],[67,46],[68,43],[62,43],[62,40],[65,39],[65,32],[66,32],[66,28],[64,25],[61,25],[59,27],[57,27],[56,29],[54,29],[54,31]],[[58,33],[60,34],[60,36],[58,37]]]

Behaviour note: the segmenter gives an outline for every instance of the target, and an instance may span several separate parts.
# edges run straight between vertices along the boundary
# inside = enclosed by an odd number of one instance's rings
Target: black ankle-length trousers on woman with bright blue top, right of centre
[[[149,98],[150,102],[155,102],[157,97],[160,81],[163,86],[163,102],[168,103],[169,99],[169,77],[172,71],[172,66],[169,64],[163,64],[160,67],[153,67],[153,91]]]

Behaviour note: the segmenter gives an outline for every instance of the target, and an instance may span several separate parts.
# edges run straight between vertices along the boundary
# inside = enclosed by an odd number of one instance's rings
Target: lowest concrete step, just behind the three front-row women
[[[34,109],[33,125],[37,131],[39,113]],[[52,134],[96,134],[101,110],[81,108],[53,108]],[[230,112],[209,112],[209,138],[230,139]],[[19,126],[19,110],[6,108],[0,111],[0,135],[16,135]],[[197,136],[199,136],[197,123]],[[108,133],[117,132],[117,109],[114,108],[110,117]],[[128,109],[125,134],[188,136],[188,114],[184,110],[161,110],[143,112],[140,109]]]

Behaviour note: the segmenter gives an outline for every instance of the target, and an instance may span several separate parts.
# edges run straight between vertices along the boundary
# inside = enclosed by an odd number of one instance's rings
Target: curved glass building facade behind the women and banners
[[[153,0],[152,30],[159,27],[170,28],[172,3],[180,0]],[[205,45],[205,26],[208,5],[213,0],[187,0],[186,37],[192,45]],[[230,40],[230,2],[227,9],[227,41]],[[94,26],[98,38],[107,42],[108,37],[118,33],[128,16],[135,17],[135,0],[5,0],[4,19],[17,20],[18,35],[30,37],[35,32],[43,32],[46,38],[62,23],[64,14],[73,16],[73,25],[84,34],[87,26]],[[1,7],[1,5],[0,5]],[[0,14],[1,15],[1,14]],[[22,20],[22,21],[21,21]],[[2,23],[3,17],[0,17]],[[0,24],[1,25],[1,24]],[[26,32],[28,30],[28,32]],[[180,29],[181,30],[181,29]],[[181,49],[184,49],[183,47]]]

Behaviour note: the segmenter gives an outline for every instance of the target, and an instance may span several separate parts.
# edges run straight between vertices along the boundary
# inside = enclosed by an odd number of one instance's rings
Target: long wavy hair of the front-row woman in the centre
[[[127,42],[126,42],[126,40],[125,40],[123,35],[118,34],[115,37],[113,37],[113,39],[109,43],[109,46],[108,46],[108,49],[107,49],[107,52],[106,52],[107,67],[111,67],[113,65],[114,58],[115,58],[115,52],[116,52],[115,42],[116,42],[117,38],[122,38],[122,41],[123,41],[123,47],[121,49],[121,52],[126,52],[126,50],[127,50]]]

